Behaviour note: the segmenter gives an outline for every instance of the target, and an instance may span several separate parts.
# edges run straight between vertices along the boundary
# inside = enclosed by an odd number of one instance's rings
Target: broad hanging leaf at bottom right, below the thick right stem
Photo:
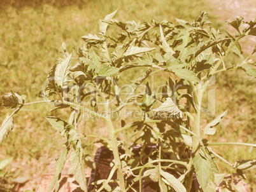
[[[203,157],[199,153],[193,158],[197,181],[204,192],[215,192],[214,172],[211,167],[211,161],[209,154],[204,154]]]

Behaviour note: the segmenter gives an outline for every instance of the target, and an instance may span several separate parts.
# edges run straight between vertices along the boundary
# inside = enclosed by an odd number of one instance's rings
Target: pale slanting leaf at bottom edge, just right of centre
[[[164,172],[163,170],[159,170],[160,174],[162,175],[162,177],[164,177],[164,182],[166,182],[166,184],[168,184],[169,186],[171,186],[171,188],[173,188],[176,192],[186,192],[186,188],[185,186],[183,186],[183,184],[178,181],[178,179],[176,179],[176,177],[174,177],[173,175]]]

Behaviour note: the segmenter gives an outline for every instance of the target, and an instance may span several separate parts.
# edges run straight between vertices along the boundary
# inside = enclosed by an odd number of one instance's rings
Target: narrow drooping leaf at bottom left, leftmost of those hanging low
[[[53,177],[53,181],[50,185],[50,188],[48,189],[48,192],[52,191],[54,186],[55,186],[55,192],[57,192],[59,190],[59,186],[60,186],[59,180],[60,180],[60,177],[61,177],[61,172],[62,172],[63,167],[64,167],[65,162],[66,162],[66,157],[68,155],[68,151],[69,151],[69,149],[66,148],[64,151],[62,151],[59,158],[57,158],[56,172],[55,172],[55,175]]]

